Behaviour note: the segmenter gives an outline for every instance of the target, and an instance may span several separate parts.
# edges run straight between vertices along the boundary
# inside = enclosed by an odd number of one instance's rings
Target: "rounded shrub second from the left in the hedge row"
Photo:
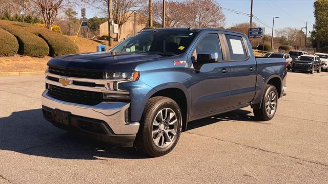
[[[28,24],[0,20],[0,27],[13,34],[19,44],[18,54],[32,57],[45,57],[49,54],[49,47],[45,40],[28,32]]]

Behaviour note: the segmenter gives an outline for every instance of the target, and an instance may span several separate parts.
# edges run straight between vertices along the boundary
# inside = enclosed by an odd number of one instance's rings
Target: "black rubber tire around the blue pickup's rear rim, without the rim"
[[[275,94],[275,109],[274,112],[269,114],[267,112],[267,101],[269,100],[269,94],[274,93]],[[265,87],[264,90],[264,94],[263,94],[263,100],[261,103],[261,106],[259,109],[254,108],[253,112],[254,112],[254,116],[255,118],[257,118],[260,121],[269,121],[271,120],[277,111],[277,107],[278,107],[278,92],[275,86],[273,85],[267,85],[267,87]]]

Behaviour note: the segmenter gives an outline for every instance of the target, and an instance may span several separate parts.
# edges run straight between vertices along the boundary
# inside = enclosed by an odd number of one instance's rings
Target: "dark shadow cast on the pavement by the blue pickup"
[[[256,121],[249,113],[239,109],[189,122],[188,130],[227,119]],[[41,109],[13,112],[0,118],[0,150],[64,159],[149,158],[134,148],[115,147],[58,129],[44,120]]]

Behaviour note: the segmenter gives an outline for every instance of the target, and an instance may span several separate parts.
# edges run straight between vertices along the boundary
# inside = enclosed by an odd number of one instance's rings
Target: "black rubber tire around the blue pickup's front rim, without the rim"
[[[172,142],[170,142],[167,147],[160,147],[160,145],[156,145],[155,139],[153,137],[154,136],[153,131],[155,126],[153,123],[155,122],[155,119],[158,118],[158,113],[162,109],[173,110],[174,113],[176,114],[176,120],[177,120],[176,134],[172,139]],[[170,125],[167,124],[167,126]],[[159,126],[158,128],[159,132],[161,128],[162,127]],[[137,147],[137,149],[141,150],[145,154],[154,157],[168,154],[176,146],[180,137],[181,128],[182,128],[182,115],[179,105],[173,99],[167,97],[153,97],[149,99],[149,101],[147,102],[144,113],[142,114],[142,118],[140,121],[140,128],[137,133],[137,137],[135,141],[135,146]],[[164,130],[161,131],[162,131],[162,137],[160,139],[166,139]],[[157,135],[158,134],[159,133],[157,133]],[[160,139],[158,140],[158,142],[160,142]]]

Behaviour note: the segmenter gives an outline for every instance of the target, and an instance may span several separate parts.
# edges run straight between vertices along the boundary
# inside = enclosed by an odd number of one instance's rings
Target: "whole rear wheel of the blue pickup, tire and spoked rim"
[[[253,109],[254,116],[260,121],[271,120],[277,110],[278,92],[275,86],[267,85],[264,90],[263,100],[259,109]]]

